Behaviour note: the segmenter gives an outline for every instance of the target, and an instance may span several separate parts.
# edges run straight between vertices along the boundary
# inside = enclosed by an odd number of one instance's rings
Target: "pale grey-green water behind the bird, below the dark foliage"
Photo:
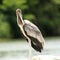
[[[0,60],[28,60],[29,45],[26,41],[1,42]],[[32,49],[34,55],[60,55],[60,39],[46,39],[42,53]]]

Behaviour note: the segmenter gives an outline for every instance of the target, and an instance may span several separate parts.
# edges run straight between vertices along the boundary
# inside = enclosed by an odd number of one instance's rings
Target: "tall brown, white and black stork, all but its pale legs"
[[[30,41],[30,44],[33,49],[38,52],[41,52],[44,48],[45,40],[42,36],[39,28],[29,20],[23,20],[21,9],[16,10],[17,24],[22,32],[22,35],[25,37],[27,42]]]

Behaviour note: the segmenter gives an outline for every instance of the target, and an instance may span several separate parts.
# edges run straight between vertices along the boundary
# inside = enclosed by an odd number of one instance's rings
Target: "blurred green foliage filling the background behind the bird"
[[[16,22],[17,8],[44,36],[60,36],[60,0],[0,0],[0,37],[21,37]]]

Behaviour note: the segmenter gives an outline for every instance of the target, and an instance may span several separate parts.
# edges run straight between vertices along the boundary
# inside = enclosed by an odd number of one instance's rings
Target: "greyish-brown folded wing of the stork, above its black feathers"
[[[24,30],[28,36],[38,39],[41,43],[44,42],[44,38],[36,25],[33,23],[24,20]]]

